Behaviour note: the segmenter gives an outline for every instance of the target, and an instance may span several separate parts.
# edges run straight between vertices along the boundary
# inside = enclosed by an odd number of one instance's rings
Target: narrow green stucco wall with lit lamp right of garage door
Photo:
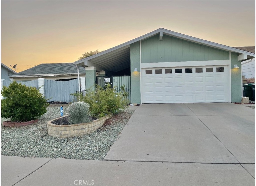
[[[231,102],[241,102],[242,98],[242,75],[241,62],[237,60],[239,54],[231,52]],[[234,68],[237,65],[239,68]]]

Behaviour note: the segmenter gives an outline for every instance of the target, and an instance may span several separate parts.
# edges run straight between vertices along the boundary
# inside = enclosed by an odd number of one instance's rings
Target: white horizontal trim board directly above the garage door
[[[230,60],[211,60],[211,61],[181,61],[164,63],[141,63],[141,68],[162,68],[162,67],[191,67],[191,66],[213,66],[230,65]]]

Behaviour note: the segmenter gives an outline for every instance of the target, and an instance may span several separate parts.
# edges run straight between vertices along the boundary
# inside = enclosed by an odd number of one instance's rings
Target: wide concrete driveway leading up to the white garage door
[[[104,160],[254,168],[255,110],[233,103],[142,104]]]

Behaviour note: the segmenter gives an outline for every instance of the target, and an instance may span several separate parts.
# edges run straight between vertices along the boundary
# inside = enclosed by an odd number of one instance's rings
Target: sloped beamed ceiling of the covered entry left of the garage
[[[130,46],[89,60],[106,71],[118,72],[130,67]]]

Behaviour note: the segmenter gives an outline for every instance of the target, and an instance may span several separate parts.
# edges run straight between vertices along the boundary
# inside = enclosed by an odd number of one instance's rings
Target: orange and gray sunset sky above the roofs
[[[255,46],[255,1],[2,1],[1,62],[68,63],[158,28]]]

